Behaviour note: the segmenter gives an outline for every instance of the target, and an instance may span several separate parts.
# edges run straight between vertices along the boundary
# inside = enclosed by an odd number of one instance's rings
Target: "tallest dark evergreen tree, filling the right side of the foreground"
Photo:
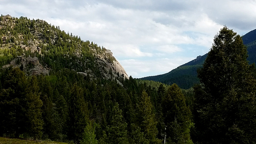
[[[214,37],[195,87],[197,140],[256,143],[255,66],[241,36],[226,26]]]

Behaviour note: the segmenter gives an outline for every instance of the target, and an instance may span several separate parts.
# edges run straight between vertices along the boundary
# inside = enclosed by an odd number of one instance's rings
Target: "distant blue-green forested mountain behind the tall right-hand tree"
[[[248,32],[242,37],[244,44],[247,46],[248,58],[250,64],[256,62],[256,29]],[[173,69],[172,71],[157,75],[157,76],[147,76],[140,78],[142,80],[153,80],[158,81],[164,84],[177,84],[180,88],[189,89],[195,84],[200,83],[197,78],[196,70],[202,68],[204,60],[207,57],[207,54],[203,56],[199,55],[195,60],[191,60],[188,63],[185,63],[178,68]]]

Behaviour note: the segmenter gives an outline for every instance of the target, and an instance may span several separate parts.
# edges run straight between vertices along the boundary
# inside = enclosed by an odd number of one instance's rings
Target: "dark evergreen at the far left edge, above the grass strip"
[[[6,69],[0,92],[0,134],[19,137],[25,132],[25,94],[28,83],[19,68]]]

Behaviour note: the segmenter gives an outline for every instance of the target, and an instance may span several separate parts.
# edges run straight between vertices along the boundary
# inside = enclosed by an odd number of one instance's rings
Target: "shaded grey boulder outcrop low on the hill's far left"
[[[20,68],[27,75],[49,75],[49,68],[44,68],[42,64],[39,63],[37,57],[24,58],[23,56],[18,56],[16,59],[12,60],[10,64],[4,65],[2,68]]]

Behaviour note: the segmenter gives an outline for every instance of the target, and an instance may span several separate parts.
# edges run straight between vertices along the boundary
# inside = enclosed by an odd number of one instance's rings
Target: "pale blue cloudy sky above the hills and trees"
[[[45,20],[110,49],[133,78],[204,55],[224,25],[239,35],[256,29],[256,0],[0,0],[0,13]]]

